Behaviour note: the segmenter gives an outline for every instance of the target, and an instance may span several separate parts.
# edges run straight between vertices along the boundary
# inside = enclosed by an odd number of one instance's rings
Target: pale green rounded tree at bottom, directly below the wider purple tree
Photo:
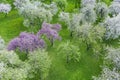
[[[28,54],[28,64],[31,66],[29,78],[46,80],[51,66],[51,59],[45,50],[37,50]]]

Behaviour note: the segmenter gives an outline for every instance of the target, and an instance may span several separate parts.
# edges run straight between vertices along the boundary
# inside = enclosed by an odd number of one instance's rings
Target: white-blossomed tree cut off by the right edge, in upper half
[[[104,23],[106,28],[106,40],[120,37],[120,14],[113,18],[107,18]]]

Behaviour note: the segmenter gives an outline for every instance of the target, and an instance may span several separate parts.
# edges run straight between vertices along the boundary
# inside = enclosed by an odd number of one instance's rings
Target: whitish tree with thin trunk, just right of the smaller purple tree
[[[62,22],[65,22],[67,25],[68,30],[70,30],[70,36],[73,36],[73,32],[75,30],[75,27],[82,24],[82,17],[81,14],[77,13],[67,13],[67,12],[61,12],[59,14],[59,19]]]

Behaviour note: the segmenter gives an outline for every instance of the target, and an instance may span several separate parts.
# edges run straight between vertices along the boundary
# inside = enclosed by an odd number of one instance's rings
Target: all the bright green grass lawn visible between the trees
[[[74,5],[70,3],[70,6],[66,11],[72,11]],[[102,59],[97,59],[91,51],[85,50],[84,44],[80,44],[80,62],[66,63],[62,55],[58,55],[57,47],[67,40],[72,41],[72,39],[66,26],[63,25],[62,28],[60,32],[62,41],[56,41],[53,47],[48,45],[47,51],[52,59],[52,65],[47,80],[91,80],[93,75],[96,76],[100,73]],[[0,14],[0,35],[7,43],[22,31],[27,31],[27,28],[23,26],[23,18],[18,15],[16,10],[12,10],[7,17],[4,17],[4,14]]]

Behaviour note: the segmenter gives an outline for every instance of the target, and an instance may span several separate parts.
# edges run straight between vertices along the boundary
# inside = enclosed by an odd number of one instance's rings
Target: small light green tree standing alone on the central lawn
[[[61,54],[66,57],[66,62],[70,62],[71,60],[75,62],[79,62],[81,53],[79,51],[79,48],[75,45],[72,45],[70,41],[67,41],[65,43],[62,43],[58,47],[58,51],[60,51]]]

